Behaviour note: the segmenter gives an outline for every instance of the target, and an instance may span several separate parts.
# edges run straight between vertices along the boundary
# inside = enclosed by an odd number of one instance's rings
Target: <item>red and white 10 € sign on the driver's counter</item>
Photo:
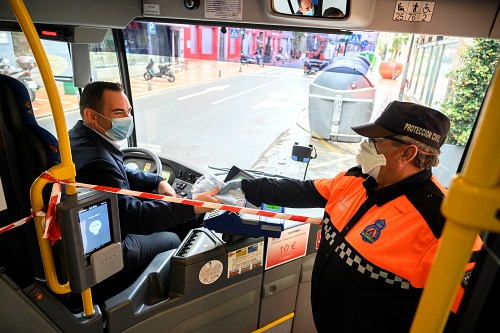
[[[302,224],[284,230],[280,238],[269,238],[265,269],[305,256],[310,228],[310,224]]]

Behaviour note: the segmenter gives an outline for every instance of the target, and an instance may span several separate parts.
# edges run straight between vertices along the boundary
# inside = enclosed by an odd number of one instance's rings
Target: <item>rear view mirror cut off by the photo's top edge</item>
[[[350,0],[272,0],[272,8],[280,14],[338,20],[349,16],[349,2]]]

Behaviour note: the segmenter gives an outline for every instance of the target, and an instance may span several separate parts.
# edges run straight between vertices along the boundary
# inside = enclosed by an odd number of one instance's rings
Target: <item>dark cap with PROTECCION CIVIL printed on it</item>
[[[368,138],[406,135],[423,144],[440,148],[450,129],[450,120],[441,112],[427,106],[393,101],[375,122],[351,128]]]

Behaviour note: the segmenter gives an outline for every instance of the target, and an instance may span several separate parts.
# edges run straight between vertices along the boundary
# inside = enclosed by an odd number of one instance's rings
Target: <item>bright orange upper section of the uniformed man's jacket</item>
[[[363,181],[342,173],[334,179],[314,182],[328,200],[325,211],[340,231],[367,198]],[[378,239],[366,241],[361,234],[375,230],[377,220],[384,220],[385,226],[379,230]],[[439,239],[426,220],[404,195],[380,207],[371,207],[345,239],[368,262],[410,281],[415,288],[424,287],[439,246]],[[478,250],[482,244],[479,237],[476,243]]]

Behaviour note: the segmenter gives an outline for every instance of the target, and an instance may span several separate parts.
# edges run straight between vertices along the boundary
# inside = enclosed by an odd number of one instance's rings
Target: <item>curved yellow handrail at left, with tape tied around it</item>
[[[71,157],[71,148],[69,144],[68,129],[66,128],[66,119],[64,117],[61,98],[59,96],[59,91],[57,90],[56,82],[54,80],[54,75],[52,74],[52,69],[50,68],[47,55],[45,54],[45,50],[43,49],[42,43],[40,42],[40,38],[38,37],[38,33],[36,32],[33,21],[31,20],[31,17],[29,16],[23,1],[9,0],[9,4],[33,51],[33,55],[36,59],[38,68],[40,69],[40,74],[42,75],[45,89],[47,90],[50,106],[52,108],[52,116],[54,118],[54,123],[56,126],[57,140],[59,142],[61,165],[50,168],[49,172],[55,179],[68,180],[70,182],[73,182],[75,180],[76,170],[73,159]],[[31,208],[34,212],[38,212],[43,209],[42,189],[46,184],[47,181],[41,178],[37,178],[31,187]],[[66,193],[69,195],[76,194],[76,188],[74,186],[66,186]],[[55,293],[68,293],[71,291],[69,285],[61,285],[57,280],[52,249],[50,247],[49,241],[43,238],[41,222],[42,218],[35,218],[37,238],[40,246],[43,268],[45,276],[47,278],[47,283],[51,290]],[[91,316],[94,313],[94,310],[90,289],[87,289],[82,293],[82,299],[84,314],[86,316]]]

